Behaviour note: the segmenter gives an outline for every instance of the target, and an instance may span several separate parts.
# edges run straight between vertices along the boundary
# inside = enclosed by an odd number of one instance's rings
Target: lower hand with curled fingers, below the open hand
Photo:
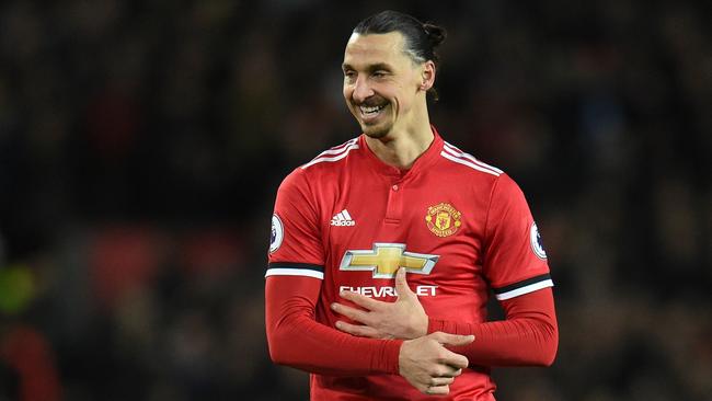
[[[447,394],[455,378],[468,367],[468,358],[445,345],[467,345],[474,335],[435,332],[401,345],[398,362],[400,375],[426,394]]]

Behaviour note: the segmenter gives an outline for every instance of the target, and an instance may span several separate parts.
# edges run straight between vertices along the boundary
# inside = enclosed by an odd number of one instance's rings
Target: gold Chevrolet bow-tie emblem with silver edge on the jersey
[[[399,267],[409,273],[430,274],[439,255],[405,252],[404,243],[374,243],[372,250],[348,250],[341,260],[341,271],[374,272],[374,278],[393,278]]]

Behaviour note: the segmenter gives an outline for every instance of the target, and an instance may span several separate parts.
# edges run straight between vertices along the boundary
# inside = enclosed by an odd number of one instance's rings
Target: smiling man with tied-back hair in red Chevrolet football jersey
[[[430,126],[444,38],[392,11],[360,22],[342,67],[364,134],[277,192],[269,353],[312,374],[312,400],[494,400],[491,366],[553,362],[553,284],[521,191]],[[490,289],[504,321],[486,322]]]

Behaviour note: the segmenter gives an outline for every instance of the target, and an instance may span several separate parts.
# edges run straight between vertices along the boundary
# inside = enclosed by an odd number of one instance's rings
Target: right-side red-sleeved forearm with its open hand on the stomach
[[[428,318],[405,280],[401,268],[395,278],[399,298],[382,302],[356,293],[343,297],[363,310],[334,303],[332,308],[364,325],[337,322],[345,332],[369,337],[411,339],[441,331],[474,335],[475,341],[453,351],[474,365],[548,366],[553,363],[559,344],[559,328],[551,288],[543,288],[502,301],[506,320],[463,323]]]

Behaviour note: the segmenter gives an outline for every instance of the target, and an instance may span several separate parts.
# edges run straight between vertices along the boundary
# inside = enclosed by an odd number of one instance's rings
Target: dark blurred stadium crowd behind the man
[[[448,30],[430,119],[547,247],[559,357],[498,398],[712,400],[712,3],[10,0],[0,401],[308,399],[266,350],[269,216],[359,134],[340,65],[383,9]]]

